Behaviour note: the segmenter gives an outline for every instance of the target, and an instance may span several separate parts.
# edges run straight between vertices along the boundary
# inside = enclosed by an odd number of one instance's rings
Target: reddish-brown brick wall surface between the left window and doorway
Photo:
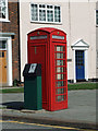
[[[9,2],[9,21],[0,23],[0,32],[15,33],[12,37],[12,67],[13,67],[13,80],[20,80],[20,45],[19,45],[19,14],[17,2]]]

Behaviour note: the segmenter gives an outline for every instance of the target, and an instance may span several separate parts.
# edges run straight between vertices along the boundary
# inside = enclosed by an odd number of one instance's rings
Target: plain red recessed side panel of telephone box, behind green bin
[[[42,103],[47,103],[47,87],[46,87],[46,46],[30,47],[29,63],[41,63],[41,85],[42,85]]]

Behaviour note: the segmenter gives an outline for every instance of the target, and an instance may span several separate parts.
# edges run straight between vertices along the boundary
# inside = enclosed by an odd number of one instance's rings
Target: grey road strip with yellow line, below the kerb
[[[19,131],[20,129],[22,131],[25,130],[52,130],[52,131],[89,131],[86,129],[78,129],[78,128],[71,128],[71,127],[59,127],[59,126],[50,126],[50,124],[40,124],[40,123],[28,123],[28,122],[21,122],[21,121],[12,121],[12,120],[0,120],[0,124],[2,124],[2,131]],[[94,130],[90,130],[94,131]]]

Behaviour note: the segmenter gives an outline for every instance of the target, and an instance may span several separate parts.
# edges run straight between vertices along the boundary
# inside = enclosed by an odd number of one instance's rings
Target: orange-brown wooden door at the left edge
[[[7,51],[0,50],[0,83],[7,83]]]

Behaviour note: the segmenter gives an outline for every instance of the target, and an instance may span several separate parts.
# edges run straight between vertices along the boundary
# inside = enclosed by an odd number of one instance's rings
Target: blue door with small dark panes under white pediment
[[[85,79],[84,50],[75,51],[76,80]]]

